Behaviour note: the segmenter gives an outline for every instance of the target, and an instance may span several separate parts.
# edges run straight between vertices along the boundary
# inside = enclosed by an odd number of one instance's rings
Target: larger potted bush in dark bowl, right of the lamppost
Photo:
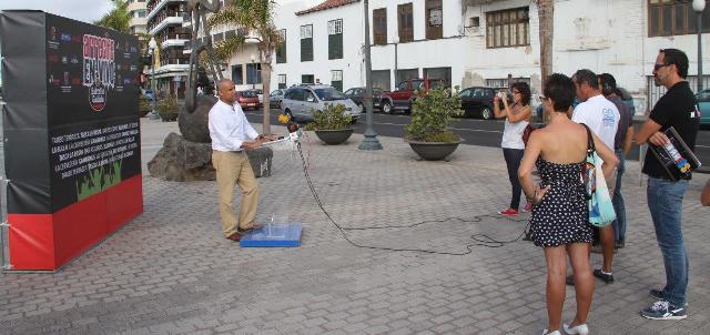
[[[464,113],[458,88],[419,90],[412,104],[412,122],[405,126],[405,142],[422,159],[438,161],[450,155],[460,138],[448,129],[454,116]]]

